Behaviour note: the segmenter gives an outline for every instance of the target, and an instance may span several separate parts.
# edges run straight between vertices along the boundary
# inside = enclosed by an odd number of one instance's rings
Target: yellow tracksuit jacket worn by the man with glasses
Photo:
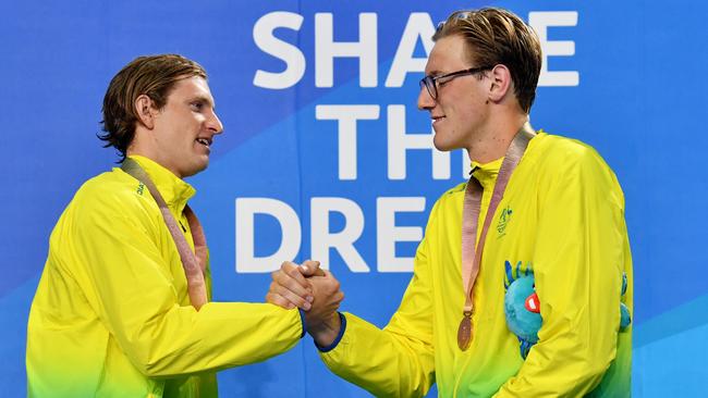
[[[501,159],[474,172],[479,227]],[[464,291],[461,228],[465,184],[435,204],[413,278],[383,331],[345,313],[339,344],[322,352],[335,374],[380,397],[627,397],[631,327],[619,333],[622,273],[632,310],[624,197],[597,152],[540,133],[513,173],[487,235],[474,287],[474,339],[457,348]],[[540,299],[539,343],[524,361],[504,318],[504,263],[530,264]]]

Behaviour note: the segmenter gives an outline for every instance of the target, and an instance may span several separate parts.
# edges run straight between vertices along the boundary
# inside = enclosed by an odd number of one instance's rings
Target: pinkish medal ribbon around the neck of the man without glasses
[[[182,260],[182,268],[184,269],[184,275],[187,279],[187,291],[190,294],[190,302],[198,311],[202,306],[207,303],[207,287],[204,281],[204,272],[207,269],[207,239],[204,235],[204,229],[202,224],[197,219],[196,214],[192,211],[190,206],[184,207],[184,215],[190,223],[190,229],[192,231],[192,239],[194,240],[194,252],[190,248],[186,238],[180,231],[174,216],[170,212],[170,209],[167,207],[164,199],[157,190],[157,187],[147,175],[145,170],[137,164],[136,161],[126,158],[123,161],[121,169],[135,177],[137,181],[143,183],[147,189],[150,191],[152,199],[157,202],[157,206],[160,208],[162,213],[162,219],[164,219],[164,224],[167,224],[174,245],[176,246],[178,251],[180,252],[180,259]]]

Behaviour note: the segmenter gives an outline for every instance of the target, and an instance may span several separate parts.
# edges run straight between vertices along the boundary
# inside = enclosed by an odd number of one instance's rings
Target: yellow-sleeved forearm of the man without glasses
[[[259,362],[288,351],[301,336],[296,310],[210,302],[198,312],[175,307],[119,341],[142,373],[170,376]]]

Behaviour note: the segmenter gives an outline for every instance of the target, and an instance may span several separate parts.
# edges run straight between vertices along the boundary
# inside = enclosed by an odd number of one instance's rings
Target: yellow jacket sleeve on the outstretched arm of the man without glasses
[[[173,242],[159,236],[157,221],[86,204],[86,215],[69,226],[73,238],[64,258],[97,316],[143,374],[173,376],[258,362],[300,340],[297,310],[208,302],[197,312],[181,306],[171,265],[156,244]]]

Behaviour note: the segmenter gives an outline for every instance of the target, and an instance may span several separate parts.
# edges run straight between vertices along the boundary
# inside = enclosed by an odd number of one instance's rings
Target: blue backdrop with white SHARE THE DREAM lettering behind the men
[[[481,5],[513,10],[544,37],[534,126],[596,147],[624,188],[634,395],[705,393],[704,2],[28,0],[0,7],[0,395],[25,394],[49,234],[78,186],[114,165],[96,138],[101,100],[139,54],[182,53],[210,74],[225,133],[190,182],[216,299],[263,301],[281,257],[317,254],[343,309],[384,325],[430,207],[464,175],[461,152],[426,149],[429,116],[415,108],[429,34]],[[366,396],[325,369],[309,338],[219,378],[224,397]]]

